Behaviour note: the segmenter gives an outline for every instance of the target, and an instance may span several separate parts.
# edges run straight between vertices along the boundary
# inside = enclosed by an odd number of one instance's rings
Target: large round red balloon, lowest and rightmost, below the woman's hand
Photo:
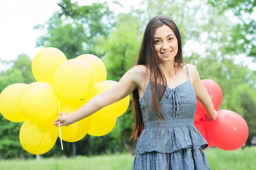
[[[222,150],[236,150],[248,138],[248,125],[238,113],[227,110],[217,111],[215,121],[205,122],[207,138]]]

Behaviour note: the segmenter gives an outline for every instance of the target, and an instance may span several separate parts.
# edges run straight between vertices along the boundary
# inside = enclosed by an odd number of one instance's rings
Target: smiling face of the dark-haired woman
[[[157,60],[162,62],[174,62],[178,52],[177,38],[169,26],[157,27],[154,31],[154,50]]]

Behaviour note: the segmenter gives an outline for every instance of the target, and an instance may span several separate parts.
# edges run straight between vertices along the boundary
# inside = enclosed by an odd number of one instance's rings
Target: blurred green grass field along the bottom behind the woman
[[[206,149],[211,170],[255,170],[256,149],[224,151]],[[134,157],[129,154],[77,156],[36,160],[1,160],[0,170],[131,170]]]

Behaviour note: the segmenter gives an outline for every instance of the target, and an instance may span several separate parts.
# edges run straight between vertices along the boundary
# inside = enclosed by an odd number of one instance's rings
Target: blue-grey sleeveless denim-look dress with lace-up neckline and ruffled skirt
[[[190,79],[175,88],[166,87],[160,101],[160,113],[166,122],[156,117],[155,123],[150,86],[148,82],[145,101],[144,96],[139,99],[145,129],[137,142],[132,169],[209,170],[203,151],[208,143],[194,126],[196,95]]]

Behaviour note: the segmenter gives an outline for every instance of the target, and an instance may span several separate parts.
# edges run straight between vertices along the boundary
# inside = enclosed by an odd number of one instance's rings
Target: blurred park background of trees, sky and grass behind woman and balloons
[[[119,81],[135,63],[146,24],[157,15],[177,24],[184,61],[197,67],[201,79],[220,85],[219,110],[239,113],[249,127],[245,147],[205,150],[211,169],[256,169],[255,0],[1,0],[0,92],[35,82],[31,62],[45,47],[60,49],[67,59],[94,54],[104,62],[107,79]],[[129,139],[131,110],[130,105],[107,135],[63,142],[64,150],[58,139],[40,156],[21,147],[22,123],[0,115],[0,169],[130,170],[137,143]]]

